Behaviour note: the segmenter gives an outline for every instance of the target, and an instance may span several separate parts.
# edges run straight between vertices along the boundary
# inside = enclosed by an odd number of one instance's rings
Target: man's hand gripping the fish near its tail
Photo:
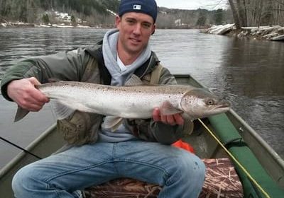
[[[35,85],[40,85],[40,82],[34,77],[14,80],[9,83],[7,93],[20,107],[39,111],[45,103],[49,102],[49,99],[38,91]]]

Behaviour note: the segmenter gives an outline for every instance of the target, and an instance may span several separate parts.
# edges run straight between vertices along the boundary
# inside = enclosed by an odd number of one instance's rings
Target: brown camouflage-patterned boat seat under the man
[[[238,175],[229,158],[203,159],[206,165],[205,182],[200,198],[244,197],[243,188]],[[102,185],[89,187],[85,190],[86,197],[158,197],[162,187],[130,178],[111,180]]]

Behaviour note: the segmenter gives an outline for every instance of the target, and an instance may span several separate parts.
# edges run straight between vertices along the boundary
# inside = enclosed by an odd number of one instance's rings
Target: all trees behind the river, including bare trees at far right
[[[235,23],[236,28],[261,25],[284,25],[284,0],[216,0],[228,9],[197,10],[160,7],[158,28],[207,28]],[[71,24],[111,27],[119,0],[0,0],[0,23],[65,23],[56,12],[71,16]]]

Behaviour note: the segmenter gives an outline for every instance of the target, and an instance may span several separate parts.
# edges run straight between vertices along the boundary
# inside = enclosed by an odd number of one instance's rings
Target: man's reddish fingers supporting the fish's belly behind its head
[[[175,124],[179,124],[182,125],[185,120],[183,119],[183,117],[178,113],[175,115],[160,115],[160,110],[159,108],[155,108],[153,110],[153,120],[155,122],[163,122],[164,124],[170,124],[170,125],[175,125]]]

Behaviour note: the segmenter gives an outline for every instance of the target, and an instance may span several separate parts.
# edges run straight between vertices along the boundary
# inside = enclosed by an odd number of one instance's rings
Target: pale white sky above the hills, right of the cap
[[[179,9],[198,9],[204,8],[214,10],[226,8],[227,0],[155,0],[159,7],[179,8]]]

